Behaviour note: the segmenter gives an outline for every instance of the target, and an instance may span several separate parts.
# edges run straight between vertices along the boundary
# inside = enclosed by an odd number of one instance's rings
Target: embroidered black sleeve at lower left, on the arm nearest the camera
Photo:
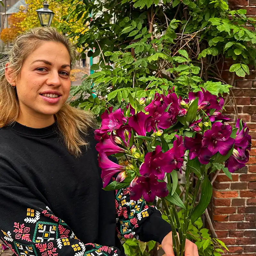
[[[82,243],[1,158],[0,173],[0,238],[16,255],[120,255],[115,247]]]

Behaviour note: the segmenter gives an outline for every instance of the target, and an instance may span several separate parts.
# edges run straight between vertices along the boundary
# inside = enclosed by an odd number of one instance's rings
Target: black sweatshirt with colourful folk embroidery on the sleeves
[[[130,200],[129,188],[102,189],[93,132],[86,140],[76,158],[56,123],[0,129],[0,236],[17,255],[117,256],[117,232],[161,243],[171,231],[155,207]]]

